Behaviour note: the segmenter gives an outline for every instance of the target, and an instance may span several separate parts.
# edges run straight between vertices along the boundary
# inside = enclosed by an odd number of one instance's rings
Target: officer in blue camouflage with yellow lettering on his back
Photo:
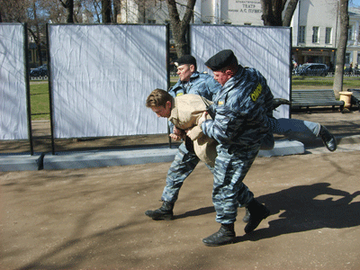
[[[243,183],[247,171],[260,149],[261,141],[270,132],[269,117],[273,112],[273,94],[264,76],[257,69],[238,65],[230,49],[221,50],[205,62],[222,88],[213,97],[214,120],[200,123],[202,132],[216,139],[218,156],[215,159],[212,202],[219,231],[202,241],[207,246],[229,244],[235,239],[234,222],[238,205],[246,205],[250,219],[245,227],[249,233],[266,219],[270,211],[257,202]],[[202,123],[201,123],[202,122]]]

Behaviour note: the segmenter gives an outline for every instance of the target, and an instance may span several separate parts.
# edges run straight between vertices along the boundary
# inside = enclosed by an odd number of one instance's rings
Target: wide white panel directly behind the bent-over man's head
[[[49,25],[55,138],[166,133],[145,106],[166,90],[165,25]]]

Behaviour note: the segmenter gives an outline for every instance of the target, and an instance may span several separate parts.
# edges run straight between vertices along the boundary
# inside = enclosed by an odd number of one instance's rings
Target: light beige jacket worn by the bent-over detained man
[[[195,154],[209,166],[214,166],[217,142],[203,135],[201,127],[197,125],[204,111],[206,111],[206,105],[200,95],[183,94],[173,99],[171,115],[168,120],[180,130],[193,128],[193,131],[198,132],[198,138],[193,140]],[[210,119],[209,115],[207,117]]]

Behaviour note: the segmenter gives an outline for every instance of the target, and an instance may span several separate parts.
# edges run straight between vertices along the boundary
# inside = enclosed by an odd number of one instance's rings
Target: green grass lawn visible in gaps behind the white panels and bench
[[[171,85],[175,85],[177,77],[171,77]],[[332,88],[334,77],[293,76],[293,89]],[[360,76],[344,77],[343,89],[360,88]],[[31,119],[49,120],[49,85],[48,82],[31,82]]]

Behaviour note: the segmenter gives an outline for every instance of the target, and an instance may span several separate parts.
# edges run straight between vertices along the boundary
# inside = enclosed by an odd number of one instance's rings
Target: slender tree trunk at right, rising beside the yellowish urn
[[[345,67],[345,53],[347,51],[347,34],[348,34],[348,0],[340,0],[339,16],[340,16],[340,37],[338,40],[337,60],[335,65],[334,92],[342,91]]]

